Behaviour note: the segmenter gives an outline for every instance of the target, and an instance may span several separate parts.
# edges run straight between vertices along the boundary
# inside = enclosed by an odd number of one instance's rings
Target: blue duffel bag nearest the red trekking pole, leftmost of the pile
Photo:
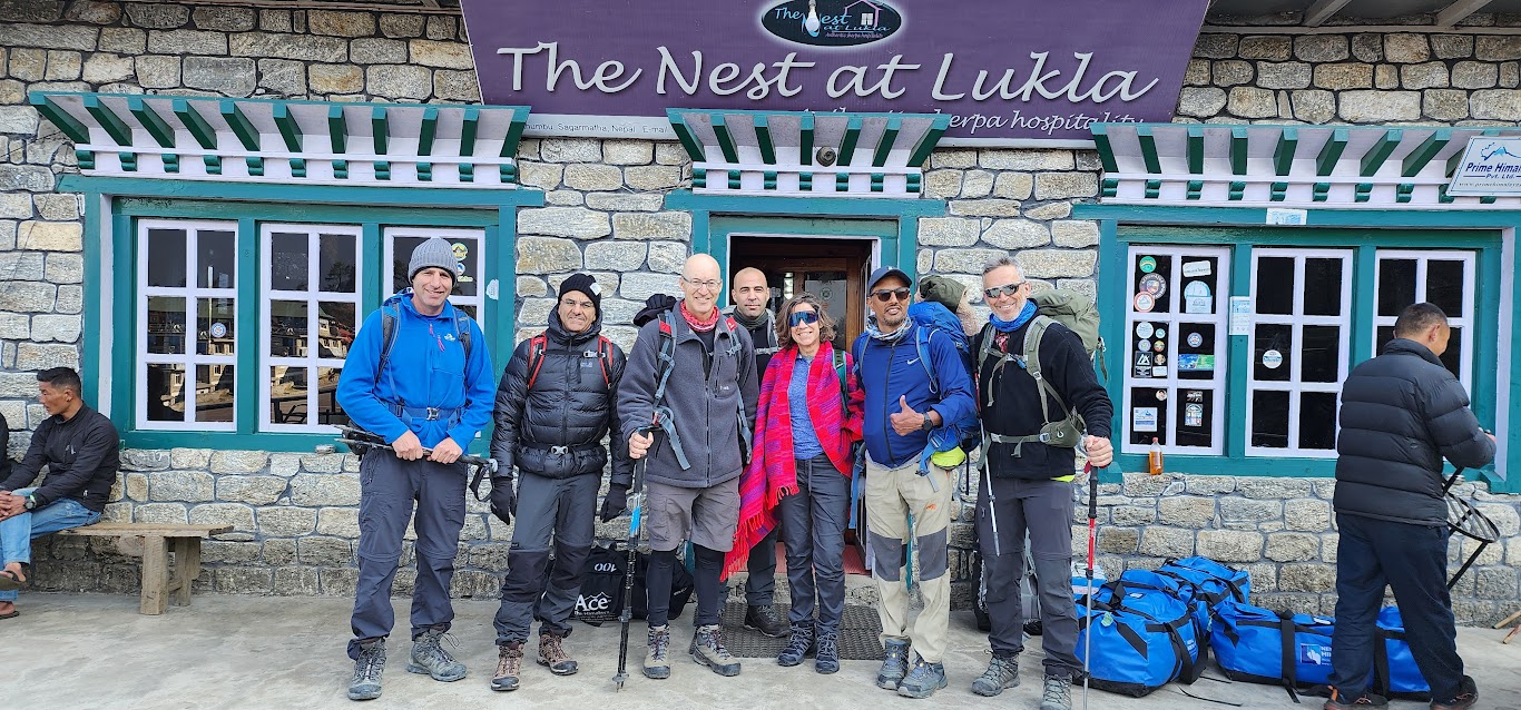
[[[1104,587],[1095,594],[1092,614],[1086,601],[1077,605],[1075,652],[1088,658],[1094,687],[1141,698],[1174,680],[1199,680],[1208,657],[1188,602],[1161,590],[1126,590],[1118,581]]]

